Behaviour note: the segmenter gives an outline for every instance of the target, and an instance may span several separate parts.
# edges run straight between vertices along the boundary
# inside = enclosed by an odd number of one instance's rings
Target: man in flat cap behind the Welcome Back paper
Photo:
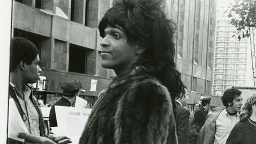
[[[61,84],[63,90],[63,97],[55,103],[55,105],[66,106],[66,107],[75,107],[76,96],[79,95],[79,90],[82,88],[81,82],[78,80],[65,81]],[[57,126],[55,105],[50,110],[49,121],[50,127]]]

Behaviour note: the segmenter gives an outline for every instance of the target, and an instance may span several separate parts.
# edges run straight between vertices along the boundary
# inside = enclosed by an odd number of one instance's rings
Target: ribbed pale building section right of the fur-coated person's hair
[[[172,2],[169,14],[177,24],[177,69],[190,91],[188,104],[194,104],[201,96],[212,95],[216,0]],[[212,101],[219,106],[215,97]]]

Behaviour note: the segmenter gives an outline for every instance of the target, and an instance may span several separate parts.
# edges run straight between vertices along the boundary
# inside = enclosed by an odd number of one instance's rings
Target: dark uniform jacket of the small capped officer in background
[[[192,124],[199,124],[199,130],[200,130],[206,121],[207,114],[208,114],[208,111],[206,109],[204,109],[203,107],[199,108],[194,113],[194,120]]]

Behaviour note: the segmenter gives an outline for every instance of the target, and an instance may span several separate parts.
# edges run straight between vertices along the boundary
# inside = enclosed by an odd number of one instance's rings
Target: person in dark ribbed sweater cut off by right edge
[[[240,114],[240,121],[233,127],[226,143],[256,143],[256,94],[245,102]]]

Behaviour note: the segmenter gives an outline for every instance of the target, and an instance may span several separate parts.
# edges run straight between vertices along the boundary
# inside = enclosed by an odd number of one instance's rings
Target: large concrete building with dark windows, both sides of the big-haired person
[[[81,95],[91,104],[107,87],[114,71],[101,67],[101,37],[97,26],[111,0],[16,0],[12,36],[25,37],[39,48],[46,88],[39,95],[55,99],[62,81],[82,81]],[[166,0],[163,7],[177,24],[177,69],[189,91],[210,95],[215,43],[216,0]],[[91,91],[92,80],[97,88]],[[94,82],[95,82],[94,81]],[[95,85],[94,85],[95,86]],[[47,103],[54,103],[52,100]],[[193,97],[194,104],[200,97]]]

